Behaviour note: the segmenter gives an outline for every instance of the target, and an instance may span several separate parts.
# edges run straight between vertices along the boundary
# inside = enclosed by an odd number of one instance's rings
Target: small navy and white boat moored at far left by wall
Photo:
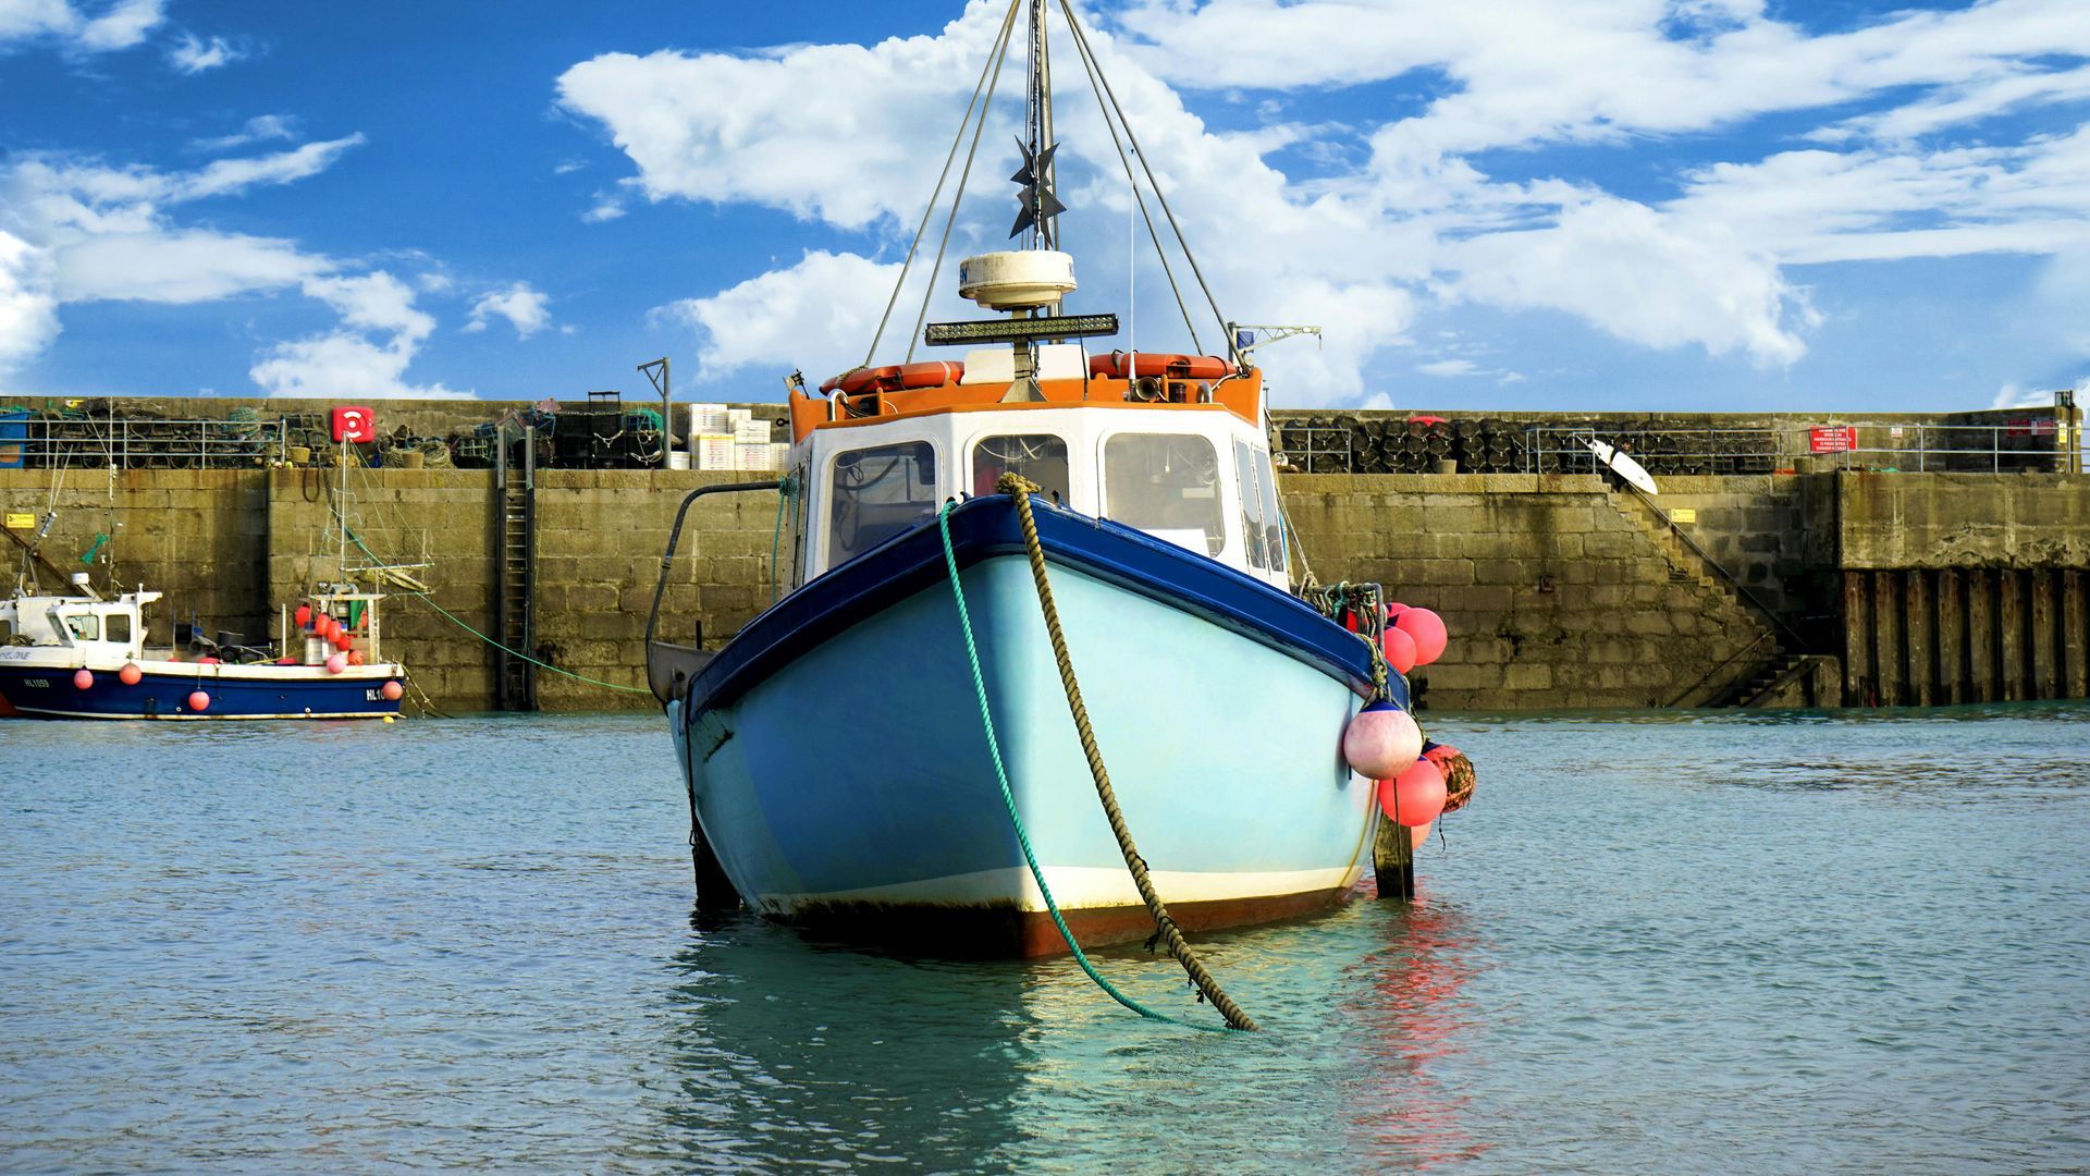
[[[100,598],[19,594],[0,603],[0,718],[253,720],[399,714],[405,668],[378,657],[376,592],[320,590],[299,605],[284,651],[146,647],[159,592]],[[334,617],[341,636],[322,636]],[[324,626],[332,632],[332,626]]]

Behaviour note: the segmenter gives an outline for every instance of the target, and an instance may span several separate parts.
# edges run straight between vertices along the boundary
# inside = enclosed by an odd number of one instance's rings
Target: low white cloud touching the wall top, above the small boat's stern
[[[270,347],[249,370],[261,391],[368,400],[470,395],[441,383],[405,381],[405,368],[435,331],[435,318],[414,308],[414,289],[399,278],[385,270],[307,278],[303,291],[334,308],[343,329]]]

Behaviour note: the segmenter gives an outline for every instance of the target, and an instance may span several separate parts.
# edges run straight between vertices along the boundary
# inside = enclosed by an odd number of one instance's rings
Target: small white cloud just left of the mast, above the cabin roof
[[[817,383],[821,375],[863,362],[863,345],[899,272],[897,264],[813,249],[788,270],[771,270],[711,297],[681,299],[656,314],[700,333],[698,379],[767,366],[780,375],[805,368],[817,372]]]

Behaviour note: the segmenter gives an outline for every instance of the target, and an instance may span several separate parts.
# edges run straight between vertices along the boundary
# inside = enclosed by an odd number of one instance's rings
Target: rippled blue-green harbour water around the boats
[[[1432,734],[1419,904],[1202,937],[1239,1036],[692,923],[656,718],[0,724],[0,1168],[2090,1166],[2090,707]]]

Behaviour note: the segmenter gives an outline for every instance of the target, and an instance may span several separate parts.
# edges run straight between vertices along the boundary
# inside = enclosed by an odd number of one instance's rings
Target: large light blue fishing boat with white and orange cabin
[[[1039,6],[1030,27],[1018,232],[1032,249],[959,268],[961,295],[1003,318],[928,326],[928,343],[978,343],[961,362],[863,366],[823,395],[796,383],[788,594],[717,651],[648,640],[700,891],[884,944],[1060,952],[1028,841],[1083,944],[1154,933],[1070,722],[1018,502],[997,492],[1014,473],[1041,488],[1028,502],[1068,657],[1175,923],[1327,908],[1356,885],[1379,820],[1346,726],[1373,699],[1407,707],[1375,655],[1384,615],[1373,605],[1350,632],[1327,594],[1294,590],[1246,343],[1081,343],[1116,333],[1116,316],[1060,306],[1074,272],[1053,249]],[[663,586],[671,563],[673,540]],[[658,596],[656,621],[690,632],[658,617]]]

